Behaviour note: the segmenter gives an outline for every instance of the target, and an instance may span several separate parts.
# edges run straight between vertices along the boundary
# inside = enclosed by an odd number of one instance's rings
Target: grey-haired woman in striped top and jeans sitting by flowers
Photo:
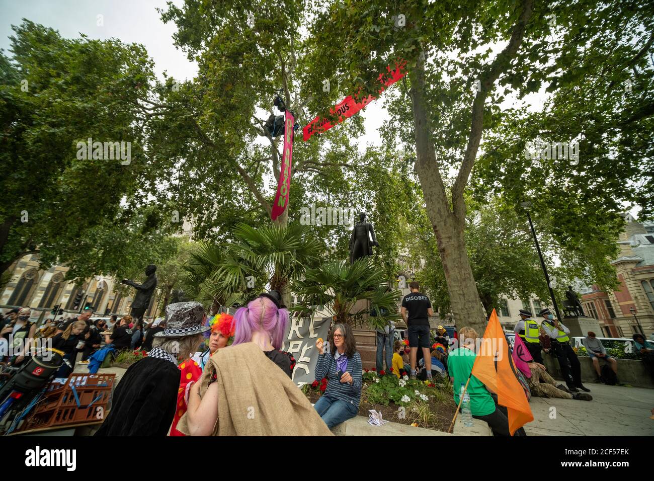
[[[315,404],[320,418],[330,428],[354,418],[359,410],[362,386],[361,356],[356,351],[352,329],[336,324],[332,330],[332,353],[325,354],[322,339],[318,339],[316,380],[327,378],[327,389]]]

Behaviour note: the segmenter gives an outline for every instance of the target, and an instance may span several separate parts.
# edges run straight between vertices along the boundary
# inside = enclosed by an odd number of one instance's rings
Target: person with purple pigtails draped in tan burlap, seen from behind
[[[177,429],[192,436],[330,435],[290,379],[289,358],[278,350],[288,325],[279,293],[264,293],[239,308],[234,323],[232,346],[209,358]]]

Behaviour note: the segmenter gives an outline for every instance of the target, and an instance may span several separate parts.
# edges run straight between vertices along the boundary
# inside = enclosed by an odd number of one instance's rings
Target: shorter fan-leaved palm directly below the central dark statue
[[[372,328],[399,319],[397,300],[400,291],[388,287],[383,270],[375,268],[369,257],[350,265],[347,261],[331,260],[318,268],[308,269],[304,278],[294,283],[300,306],[292,308],[298,315],[313,315],[324,306],[339,323],[362,325],[366,314]],[[368,300],[356,308],[359,300]]]

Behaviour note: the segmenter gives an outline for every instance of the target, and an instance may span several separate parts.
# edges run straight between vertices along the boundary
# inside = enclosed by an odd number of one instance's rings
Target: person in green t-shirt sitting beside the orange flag
[[[470,327],[462,327],[458,332],[460,347],[453,349],[448,355],[447,368],[450,380],[453,382],[454,400],[460,402],[460,387],[468,383],[466,392],[470,396],[470,412],[472,417],[486,421],[495,436],[510,436],[509,418],[506,407],[496,404],[483,382],[472,375],[475,363],[475,340],[479,338],[477,331]],[[470,378],[470,382],[468,382]],[[526,436],[523,428],[517,429],[515,436]]]

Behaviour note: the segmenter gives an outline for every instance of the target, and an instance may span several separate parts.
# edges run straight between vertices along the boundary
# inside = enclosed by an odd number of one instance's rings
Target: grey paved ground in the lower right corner
[[[654,389],[594,383],[586,387],[593,401],[532,397],[534,421],[525,425],[527,435],[654,436],[654,419],[649,418]]]

